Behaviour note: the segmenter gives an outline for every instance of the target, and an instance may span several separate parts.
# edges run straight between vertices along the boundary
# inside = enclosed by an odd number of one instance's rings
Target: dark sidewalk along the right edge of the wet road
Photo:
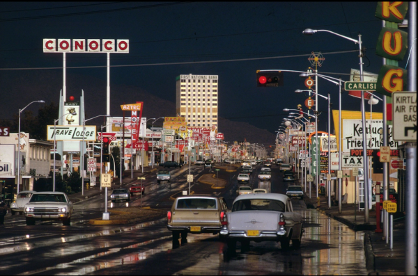
[[[328,197],[319,195],[320,205],[316,199],[316,189],[311,188],[304,197],[308,208],[315,208],[334,220],[338,220],[350,229],[364,231],[364,251],[369,275],[405,275],[405,217],[394,218],[393,248],[383,239],[383,233],[376,233],[376,210],[369,210],[369,223],[364,222],[364,211],[358,211],[355,204],[342,204],[339,213],[338,204],[328,208]],[[382,224],[381,224],[382,227]]]

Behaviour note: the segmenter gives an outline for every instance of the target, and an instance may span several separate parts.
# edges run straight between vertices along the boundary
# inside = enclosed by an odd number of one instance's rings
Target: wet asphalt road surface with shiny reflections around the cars
[[[262,183],[251,174],[253,188],[270,188],[284,193],[286,184],[273,167],[271,181]],[[142,204],[169,209],[169,196],[187,188],[188,170],[173,170],[176,181],[157,186],[155,179],[146,184]],[[192,167],[199,177],[207,173],[203,167]],[[238,187],[236,173],[220,172],[230,177],[223,189],[229,206]],[[219,175],[221,177],[221,175]],[[194,184],[192,190],[210,190]],[[111,202],[108,202],[110,208]],[[129,203],[139,206],[140,195]],[[303,200],[293,200],[293,209],[304,218],[302,245],[297,250],[282,250],[280,243],[251,242],[248,251],[227,253],[226,245],[217,235],[187,236],[187,242],[173,244],[166,219],[136,225],[88,225],[90,218],[101,217],[104,199],[92,198],[75,204],[70,227],[57,222],[37,222],[26,226],[23,216],[6,217],[0,225],[0,275],[366,275],[363,233],[353,232],[346,225],[307,209]],[[116,203],[124,206],[125,203]],[[111,209],[110,209],[111,210]],[[9,215],[10,216],[10,215]]]

